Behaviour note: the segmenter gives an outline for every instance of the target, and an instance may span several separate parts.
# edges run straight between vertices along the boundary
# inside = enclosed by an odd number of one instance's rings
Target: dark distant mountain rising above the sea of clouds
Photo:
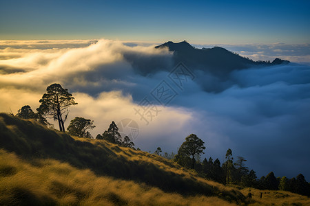
[[[273,62],[254,61],[222,47],[197,49],[186,41],[180,43],[168,41],[155,48],[160,49],[163,47],[167,47],[169,51],[174,52],[175,64],[183,62],[191,69],[200,69],[219,77],[227,76],[227,74],[236,69],[289,63],[289,61],[280,60],[279,58],[276,58]]]

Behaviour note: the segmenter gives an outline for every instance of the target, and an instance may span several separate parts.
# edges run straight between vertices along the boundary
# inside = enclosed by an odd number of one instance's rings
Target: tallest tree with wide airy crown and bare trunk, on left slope
[[[59,130],[65,131],[64,122],[68,117],[68,108],[77,103],[68,89],[63,89],[61,84],[51,84],[46,91],[39,101],[41,105],[37,111],[43,116],[52,116],[55,121],[58,120]]]

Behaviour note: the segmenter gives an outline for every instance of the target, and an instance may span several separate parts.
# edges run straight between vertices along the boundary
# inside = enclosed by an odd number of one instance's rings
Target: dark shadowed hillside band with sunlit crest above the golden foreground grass
[[[165,192],[227,197],[236,203],[245,201],[240,192],[223,191],[200,182],[198,176],[158,155],[119,147],[104,140],[74,139],[34,120],[0,113],[0,134],[0,148],[14,152],[32,165],[38,164],[36,159],[56,159],[76,168],[90,169],[97,175],[133,180]]]

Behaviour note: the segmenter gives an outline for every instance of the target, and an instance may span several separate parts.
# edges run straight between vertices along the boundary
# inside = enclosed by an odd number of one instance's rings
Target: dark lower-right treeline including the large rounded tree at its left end
[[[276,178],[273,172],[270,172],[267,176],[257,179],[256,172],[249,170],[245,165],[247,160],[244,157],[237,157],[234,161],[231,149],[227,150],[225,162],[222,164],[219,159],[213,160],[211,157],[209,160],[205,158],[200,161],[200,155],[204,154],[203,150],[205,150],[204,144],[196,135],[189,135],[178,149],[174,161],[185,168],[195,170],[206,179],[224,185],[233,184],[259,190],[283,190],[310,196],[310,183],[304,179],[304,175],[298,174],[296,178],[287,179],[286,176]],[[157,148],[154,154],[161,155],[161,148]]]

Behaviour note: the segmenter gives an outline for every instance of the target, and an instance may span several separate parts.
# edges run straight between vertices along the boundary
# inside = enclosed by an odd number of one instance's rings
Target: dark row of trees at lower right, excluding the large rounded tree
[[[236,162],[227,160],[222,165],[220,161],[210,157],[209,160],[197,162],[195,170],[205,176],[207,179],[223,183],[225,185],[234,184],[243,187],[254,187],[260,190],[283,190],[305,196],[310,196],[310,183],[304,179],[304,175],[292,179],[287,179],[286,176],[276,177],[273,172],[257,179],[256,172],[245,167],[246,160],[243,157],[237,157]]]

